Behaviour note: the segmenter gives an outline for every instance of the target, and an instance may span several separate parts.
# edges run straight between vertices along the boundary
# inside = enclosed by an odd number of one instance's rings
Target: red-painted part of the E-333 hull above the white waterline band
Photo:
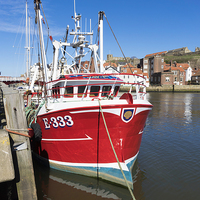
[[[144,111],[139,113],[137,109],[141,109],[141,105],[102,108],[119,161],[134,157],[139,151],[151,106],[143,105]],[[113,114],[112,110],[118,114]],[[131,110],[132,116],[124,121],[125,112],[130,114]],[[38,116],[37,122],[42,129],[42,141],[35,151],[40,156],[80,164],[116,162],[99,107],[59,110]]]

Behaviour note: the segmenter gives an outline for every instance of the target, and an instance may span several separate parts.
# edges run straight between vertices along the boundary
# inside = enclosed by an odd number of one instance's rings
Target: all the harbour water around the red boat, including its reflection
[[[200,199],[200,93],[149,93],[154,105],[133,168],[137,200]],[[38,199],[123,199],[128,189],[34,162]]]

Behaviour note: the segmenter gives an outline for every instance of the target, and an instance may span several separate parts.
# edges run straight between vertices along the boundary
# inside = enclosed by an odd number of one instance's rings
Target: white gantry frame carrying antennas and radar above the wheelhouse
[[[97,63],[97,50],[98,46],[96,44],[92,44],[92,36],[93,36],[93,31],[91,30],[91,20],[90,20],[90,31],[87,32],[87,30],[82,31],[80,27],[80,20],[81,20],[81,15],[76,13],[76,7],[75,7],[75,0],[74,0],[74,16],[72,19],[74,20],[74,29],[72,29],[71,32],[69,32],[69,26],[67,26],[66,30],[66,37],[65,41],[56,41],[54,40],[52,42],[53,47],[54,47],[54,60],[53,60],[53,73],[52,73],[52,79],[56,79],[56,69],[58,66],[58,56],[59,56],[59,50],[64,46],[64,52],[63,52],[63,57],[61,58],[61,68],[63,67],[63,60],[65,57],[65,54],[68,54],[69,57],[73,59],[73,62],[71,65],[67,65],[67,69],[71,70],[73,73],[80,73],[81,72],[81,61],[82,58],[89,52],[92,51],[93,58],[94,58],[94,66],[95,66],[95,72],[98,73],[98,63]],[[68,33],[70,35],[73,35],[73,41],[71,43],[68,42],[67,36]],[[89,41],[86,40],[86,37],[90,36],[90,44]],[[66,47],[72,47],[75,50],[75,56],[72,56],[69,54],[69,52],[66,51]],[[85,49],[89,49],[88,52],[85,52]],[[62,49],[63,51],[63,49]]]

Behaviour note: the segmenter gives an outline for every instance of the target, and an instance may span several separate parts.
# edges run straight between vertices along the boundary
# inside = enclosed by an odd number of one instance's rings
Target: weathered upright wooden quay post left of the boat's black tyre
[[[13,91],[14,92],[14,91]],[[7,128],[28,135],[22,94],[4,93]],[[19,200],[37,200],[30,141],[28,137],[10,133],[14,144],[13,160]]]

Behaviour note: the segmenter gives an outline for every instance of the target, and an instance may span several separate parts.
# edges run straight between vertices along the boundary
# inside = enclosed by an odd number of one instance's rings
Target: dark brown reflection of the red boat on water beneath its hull
[[[96,178],[50,169],[35,159],[34,171],[39,200],[132,199],[127,188]],[[133,167],[133,179],[134,195],[136,198],[141,197],[143,194],[141,181],[145,179],[145,176],[140,171],[137,161]]]

